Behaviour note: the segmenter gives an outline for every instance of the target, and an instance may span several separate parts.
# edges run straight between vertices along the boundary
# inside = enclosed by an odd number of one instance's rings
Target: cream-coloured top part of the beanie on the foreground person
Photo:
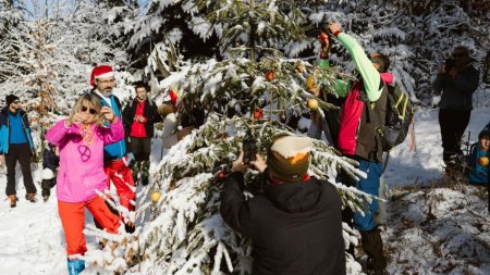
[[[285,136],[275,140],[270,150],[289,159],[297,153],[309,153],[313,150],[313,142],[308,137]]]

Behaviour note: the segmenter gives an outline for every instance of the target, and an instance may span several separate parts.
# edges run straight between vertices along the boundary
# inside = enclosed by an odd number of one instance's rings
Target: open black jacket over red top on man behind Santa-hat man
[[[134,122],[134,115],[136,113],[136,107],[138,104],[137,99],[130,101],[123,111],[123,124],[126,136],[131,133],[131,125]],[[145,116],[148,121],[145,123],[145,132],[146,137],[154,137],[154,124],[157,122],[161,122],[161,116],[157,112],[157,107],[154,102],[148,99],[145,100],[145,109],[143,110],[143,116]]]

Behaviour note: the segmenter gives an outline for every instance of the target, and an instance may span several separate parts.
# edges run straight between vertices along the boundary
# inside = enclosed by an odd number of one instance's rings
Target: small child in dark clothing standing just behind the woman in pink
[[[51,188],[56,185],[56,174],[58,166],[60,166],[60,151],[59,148],[49,143],[49,148],[42,153],[42,199],[48,201],[51,195]]]

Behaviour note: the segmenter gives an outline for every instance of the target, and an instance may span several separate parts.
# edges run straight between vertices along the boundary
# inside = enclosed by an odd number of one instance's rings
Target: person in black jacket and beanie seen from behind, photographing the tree
[[[341,199],[336,188],[307,174],[311,140],[277,136],[267,162],[252,166],[265,174],[264,193],[246,200],[243,152],[221,192],[221,216],[253,242],[253,274],[346,274]]]

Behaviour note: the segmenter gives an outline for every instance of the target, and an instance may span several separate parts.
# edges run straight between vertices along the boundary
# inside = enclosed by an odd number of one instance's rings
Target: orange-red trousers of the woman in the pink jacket
[[[66,240],[66,254],[85,254],[85,208],[94,215],[94,218],[106,228],[108,233],[117,233],[119,216],[114,215],[106,204],[106,201],[96,196],[84,202],[58,201],[58,213],[63,225],[64,239]]]

